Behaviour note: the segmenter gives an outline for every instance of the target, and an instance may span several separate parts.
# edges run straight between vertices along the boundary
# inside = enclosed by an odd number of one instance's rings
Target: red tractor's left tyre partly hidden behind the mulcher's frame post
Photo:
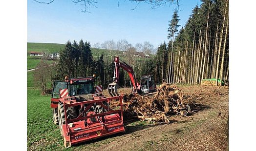
[[[61,131],[61,134],[63,135],[62,131],[62,125],[65,124],[65,110],[64,110],[64,104],[62,102],[59,102],[58,104],[58,116],[59,116],[59,128]],[[66,111],[67,119],[73,119],[77,117],[77,111],[75,107],[68,107]]]

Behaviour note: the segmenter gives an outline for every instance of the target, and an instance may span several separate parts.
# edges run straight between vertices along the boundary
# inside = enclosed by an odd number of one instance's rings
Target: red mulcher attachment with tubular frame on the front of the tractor
[[[85,142],[91,139],[97,139],[103,136],[125,132],[123,123],[123,96],[107,97],[83,102],[74,102],[71,104],[64,103],[65,124],[62,125],[64,146],[66,148]],[[108,104],[111,100],[120,101],[119,110],[111,110]],[[97,113],[91,109],[95,106],[101,106],[104,112]],[[68,107],[76,106],[82,111],[76,118],[67,119]]]

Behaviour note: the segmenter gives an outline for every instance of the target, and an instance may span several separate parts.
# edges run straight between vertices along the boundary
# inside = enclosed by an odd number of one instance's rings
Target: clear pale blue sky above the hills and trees
[[[168,41],[168,21],[176,5],[152,9],[141,2],[132,10],[137,4],[128,0],[119,0],[119,6],[117,0],[97,1],[97,8],[91,6],[88,10],[91,13],[82,13],[83,6],[71,0],[55,0],[51,4],[28,0],[27,41],[64,44],[68,39],[83,38],[93,45],[109,39],[127,39],[132,45],[149,41],[155,48]],[[180,28],[196,4],[200,5],[200,0],[180,1]]]

